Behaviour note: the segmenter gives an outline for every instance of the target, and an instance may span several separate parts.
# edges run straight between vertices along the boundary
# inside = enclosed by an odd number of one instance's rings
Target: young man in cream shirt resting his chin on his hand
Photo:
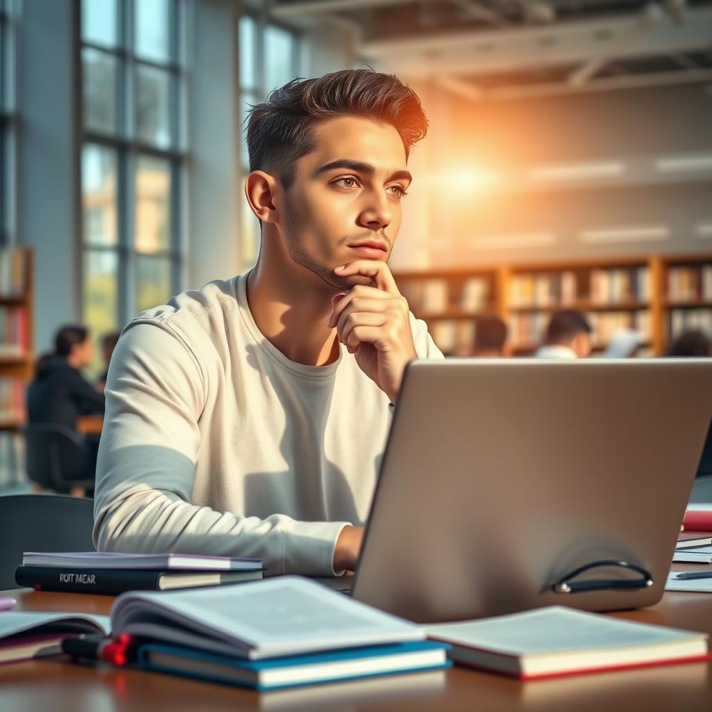
[[[441,357],[387,259],[426,132],[394,76],[295,80],[251,112],[246,275],[139,315],[109,370],[100,550],[355,566],[404,368]],[[394,513],[396,516],[397,513]]]

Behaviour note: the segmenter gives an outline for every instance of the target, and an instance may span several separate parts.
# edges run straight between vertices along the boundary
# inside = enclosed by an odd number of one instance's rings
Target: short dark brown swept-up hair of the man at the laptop
[[[406,157],[428,128],[418,95],[394,74],[344,69],[316,79],[294,79],[250,110],[250,170],[276,174],[288,188],[295,161],[314,150],[315,127],[338,116],[391,125],[403,141]]]

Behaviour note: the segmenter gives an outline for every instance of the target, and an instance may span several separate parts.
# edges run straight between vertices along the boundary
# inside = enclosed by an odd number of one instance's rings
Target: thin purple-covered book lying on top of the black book
[[[262,559],[238,559],[198,554],[121,554],[98,551],[26,551],[23,566],[88,569],[196,569],[201,571],[257,571]]]

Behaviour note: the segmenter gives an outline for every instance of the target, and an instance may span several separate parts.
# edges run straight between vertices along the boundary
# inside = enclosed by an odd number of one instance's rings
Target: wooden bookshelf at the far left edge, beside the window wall
[[[0,430],[25,422],[25,389],[33,376],[33,253],[0,249]]]

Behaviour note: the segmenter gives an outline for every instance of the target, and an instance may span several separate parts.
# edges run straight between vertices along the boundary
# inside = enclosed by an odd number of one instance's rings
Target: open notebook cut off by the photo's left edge
[[[0,613],[0,663],[56,655],[63,638],[110,631],[108,616],[78,613]]]

